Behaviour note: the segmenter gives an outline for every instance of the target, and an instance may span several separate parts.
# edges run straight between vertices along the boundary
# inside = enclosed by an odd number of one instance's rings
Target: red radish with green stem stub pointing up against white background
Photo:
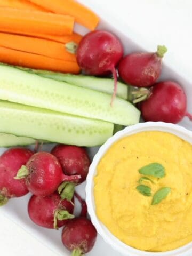
[[[137,87],[153,85],[162,71],[162,58],[167,51],[158,45],[157,52],[138,52],[126,55],[119,63],[118,73],[123,81]]]

